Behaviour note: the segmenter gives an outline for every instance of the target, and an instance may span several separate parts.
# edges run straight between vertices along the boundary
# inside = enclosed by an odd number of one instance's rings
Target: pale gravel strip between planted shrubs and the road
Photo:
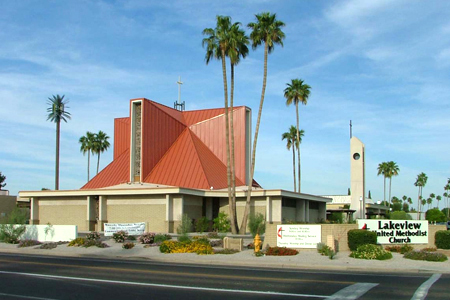
[[[54,249],[37,249],[37,246],[18,248],[17,245],[0,243],[0,252],[60,255],[74,257],[101,257],[111,259],[143,259],[149,261],[235,265],[248,267],[273,267],[297,269],[332,269],[332,270],[365,270],[375,272],[433,272],[450,273],[450,261],[428,262],[403,258],[403,255],[393,253],[393,258],[385,261],[350,258],[348,251],[339,252],[333,260],[321,256],[315,250],[300,250],[295,256],[263,256],[256,257],[253,250],[244,250],[235,254],[197,255],[193,253],[163,254],[159,247],[144,248],[136,244],[133,249],[122,249],[122,244],[114,240],[105,241],[109,248],[68,247],[58,245]],[[447,256],[450,252],[445,253]]]

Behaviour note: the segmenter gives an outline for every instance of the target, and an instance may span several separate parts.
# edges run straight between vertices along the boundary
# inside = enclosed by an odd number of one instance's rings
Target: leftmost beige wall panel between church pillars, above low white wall
[[[88,230],[87,200],[84,197],[39,199],[39,223],[45,225],[77,225],[78,230]]]

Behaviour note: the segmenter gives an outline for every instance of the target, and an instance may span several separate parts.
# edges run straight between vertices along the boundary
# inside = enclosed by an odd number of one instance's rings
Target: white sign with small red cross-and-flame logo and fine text
[[[316,248],[322,241],[320,225],[277,225],[277,246]]]

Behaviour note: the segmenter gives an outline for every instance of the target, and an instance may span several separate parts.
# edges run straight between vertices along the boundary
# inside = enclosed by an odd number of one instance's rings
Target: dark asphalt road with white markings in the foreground
[[[0,254],[0,299],[450,299],[450,275]],[[426,297],[426,298],[425,298]]]

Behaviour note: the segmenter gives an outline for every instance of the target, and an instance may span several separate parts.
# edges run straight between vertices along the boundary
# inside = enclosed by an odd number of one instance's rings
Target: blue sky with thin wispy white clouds
[[[442,194],[450,177],[450,2],[414,0],[2,1],[6,189],[54,187],[55,124],[46,121],[54,94],[69,99],[72,114],[61,128],[61,189],[85,183],[78,139],[99,130],[113,137],[113,119],[128,116],[129,99],[172,106],[181,76],[188,110],[223,106],[221,65],[205,64],[202,30],[215,26],[216,15],[246,26],[264,11],[286,23],[286,39],[268,60],[255,178],[265,188],[293,189],[281,134],[295,124],[295,109],[286,107],[283,90],[301,78],[312,87],[300,108],[303,192],[347,193],[352,120],[366,146],[372,198],[383,198],[377,165],[389,160],[400,167],[393,195],[416,199],[420,172],[428,175],[424,194]],[[236,68],[236,105],[252,108],[254,121],[262,71],[262,49]],[[101,167],[112,153],[102,155]]]

